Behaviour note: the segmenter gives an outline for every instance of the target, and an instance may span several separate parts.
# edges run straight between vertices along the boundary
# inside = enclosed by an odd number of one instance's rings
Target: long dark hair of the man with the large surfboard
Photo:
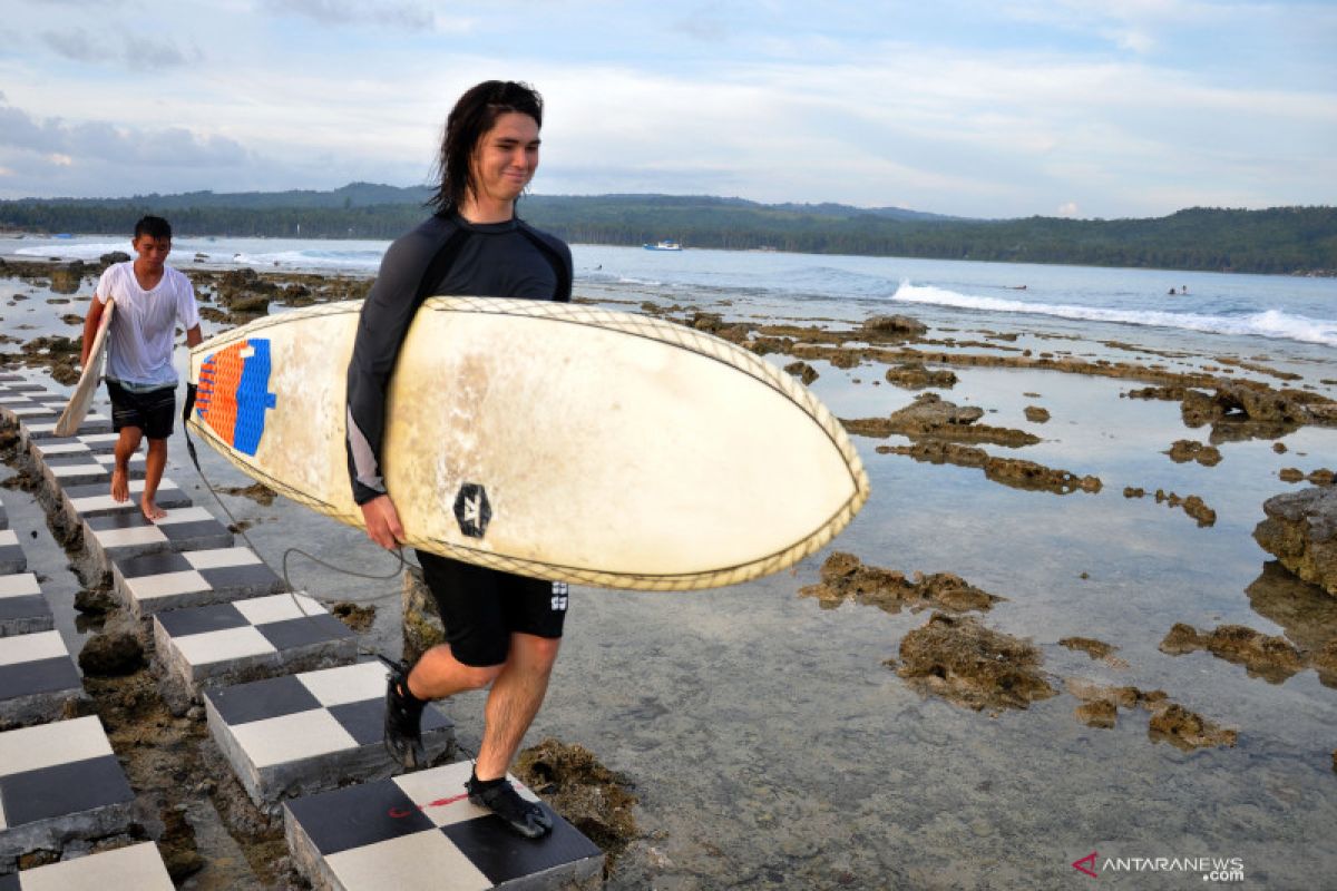
[[[445,119],[445,134],[441,138],[441,154],[436,159],[433,174],[440,175],[441,186],[436,195],[428,199],[428,206],[444,214],[464,203],[465,194],[473,188],[473,172],[469,160],[483,134],[492,130],[497,118],[517,111],[529,115],[543,127],[543,96],[533,87],[513,80],[484,80],[460,96]]]

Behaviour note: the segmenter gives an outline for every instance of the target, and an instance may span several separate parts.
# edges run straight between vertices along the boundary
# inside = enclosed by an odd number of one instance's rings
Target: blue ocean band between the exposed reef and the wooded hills
[[[180,238],[171,262],[274,271],[374,274],[388,242]],[[95,260],[128,244],[106,236],[0,239],[0,256]],[[927,313],[985,323],[1043,327],[1076,323],[1119,337],[1201,333],[1337,346],[1337,279],[972,263],[769,251],[646,251],[575,244],[578,285],[693,299],[747,299],[761,313],[828,313],[858,318]],[[1170,289],[1177,294],[1171,297]]]

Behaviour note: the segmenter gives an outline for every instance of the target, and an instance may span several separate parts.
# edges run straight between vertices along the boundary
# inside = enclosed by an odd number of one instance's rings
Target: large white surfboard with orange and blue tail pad
[[[361,302],[191,350],[190,429],[361,526],[345,381]],[[431,298],[390,379],[385,482],[409,544],[540,578],[681,590],[783,569],[868,498],[840,422],[719,338],[587,306]]]

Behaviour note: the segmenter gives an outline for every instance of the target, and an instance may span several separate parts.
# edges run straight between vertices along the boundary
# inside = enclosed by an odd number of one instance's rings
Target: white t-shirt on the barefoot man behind
[[[176,383],[171,363],[176,322],[187,331],[199,325],[195,289],[190,279],[163,266],[163,278],[151,291],[139,287],[135,262],[114,263],[98,282],[98,301],[116,301],[107,333],[107,377],[139,386]]]

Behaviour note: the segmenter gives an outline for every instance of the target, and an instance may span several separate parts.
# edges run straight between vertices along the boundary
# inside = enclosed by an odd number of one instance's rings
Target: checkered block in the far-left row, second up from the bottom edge
[[[0,870],[68,839],[130,830],[134,793],[96,717],[0,733]]]

